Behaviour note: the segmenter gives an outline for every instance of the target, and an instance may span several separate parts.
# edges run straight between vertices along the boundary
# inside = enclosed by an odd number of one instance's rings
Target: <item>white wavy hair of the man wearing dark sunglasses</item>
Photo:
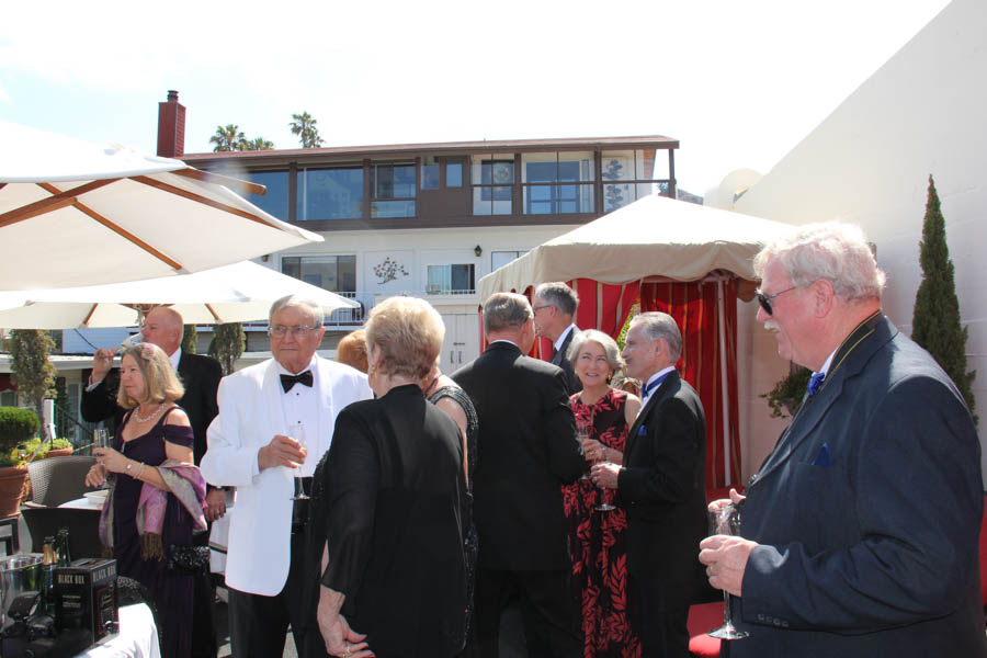
[[[853,224],[807,224],[775,240],[755,257],[759,277],[763,277],[773,260],[784,269],[792,285],[825,279],[844,302],[881,299],[886,281],[864,232]]]

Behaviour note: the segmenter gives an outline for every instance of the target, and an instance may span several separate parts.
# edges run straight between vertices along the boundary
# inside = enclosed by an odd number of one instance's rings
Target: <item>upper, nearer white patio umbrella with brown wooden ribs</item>
[[[228,188],[264,188],[134,149],[0,121],[0,291],[198,272],[322,238]]]

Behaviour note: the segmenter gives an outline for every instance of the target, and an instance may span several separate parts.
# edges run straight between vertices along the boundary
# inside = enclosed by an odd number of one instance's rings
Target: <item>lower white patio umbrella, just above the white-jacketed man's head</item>
[[[170,306],[186,324],[250,322],[268,319],[274,300],[302,295],[328,315],[360,304],[252,262],[224,265],[185,276],[163,276],[75,288],[0,292],[4,329],[134,327],[155,306]]]

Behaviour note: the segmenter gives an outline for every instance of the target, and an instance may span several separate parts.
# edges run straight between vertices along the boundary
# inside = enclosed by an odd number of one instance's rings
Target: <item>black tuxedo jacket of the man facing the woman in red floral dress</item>
[[[699,595],[706,535],[706,420],[695,389],[672,371],[627,432],[617,502],[627,513],[627,568],[672,606]]]

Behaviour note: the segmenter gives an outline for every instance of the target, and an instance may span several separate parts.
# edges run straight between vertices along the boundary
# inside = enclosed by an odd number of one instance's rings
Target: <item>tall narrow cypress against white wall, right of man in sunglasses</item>
[[[953,261],[945,239],[945,219],[939,205],[935,182],[929,175],[929,197],[919,242],[922,282],[915,295],[911,338],[922,345],[946,374],[974,410],[973,379],[976,371],[966,370],[967,328],[960,324],[960,299],[953,277]],[[977,417],[974,416],[974,421]]]

